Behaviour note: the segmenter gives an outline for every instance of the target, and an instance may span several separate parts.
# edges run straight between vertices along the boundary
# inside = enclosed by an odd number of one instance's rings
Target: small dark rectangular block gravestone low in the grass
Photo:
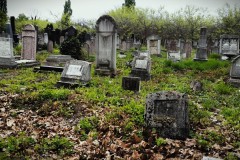
[[[134,92],[140,91],[140,78],[139,77],[123,77],[122,88]]]

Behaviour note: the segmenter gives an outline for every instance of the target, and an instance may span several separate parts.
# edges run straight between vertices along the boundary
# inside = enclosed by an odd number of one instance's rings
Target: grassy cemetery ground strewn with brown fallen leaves
[[[94,75],[93,63],[90,85],[75,89],[55,88],[60,73],[0,69],[0,159],[237,159],[240,90],[227,82],[229,61],[213,54],[206,62],[174,63],[162,52],[152,57],[152,79],[134,93],[121,87],[130,73],[126,54],[115,78]],[[194,80],[202,90],[191,89]],[[164,90],[188,95],[186,140],[159,137],[144,125],[147,94]]]

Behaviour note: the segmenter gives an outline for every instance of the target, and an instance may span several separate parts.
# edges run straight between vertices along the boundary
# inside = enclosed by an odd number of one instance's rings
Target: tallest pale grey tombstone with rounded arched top
[[[96,22],[96,74],[116,74],[117,24],[109,15]]]

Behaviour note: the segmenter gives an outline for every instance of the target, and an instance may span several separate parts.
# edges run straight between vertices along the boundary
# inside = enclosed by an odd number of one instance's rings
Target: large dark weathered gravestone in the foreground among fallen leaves
[[[189,135],[187,95],[172,91],[147,96],[145,123],[156,128],[161,137],[186,139]]]

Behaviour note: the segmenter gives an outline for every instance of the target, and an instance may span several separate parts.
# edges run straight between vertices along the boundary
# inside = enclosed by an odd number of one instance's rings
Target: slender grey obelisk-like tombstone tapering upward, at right
[[[202,27],[194,61],[207,61],[207,28]]]

